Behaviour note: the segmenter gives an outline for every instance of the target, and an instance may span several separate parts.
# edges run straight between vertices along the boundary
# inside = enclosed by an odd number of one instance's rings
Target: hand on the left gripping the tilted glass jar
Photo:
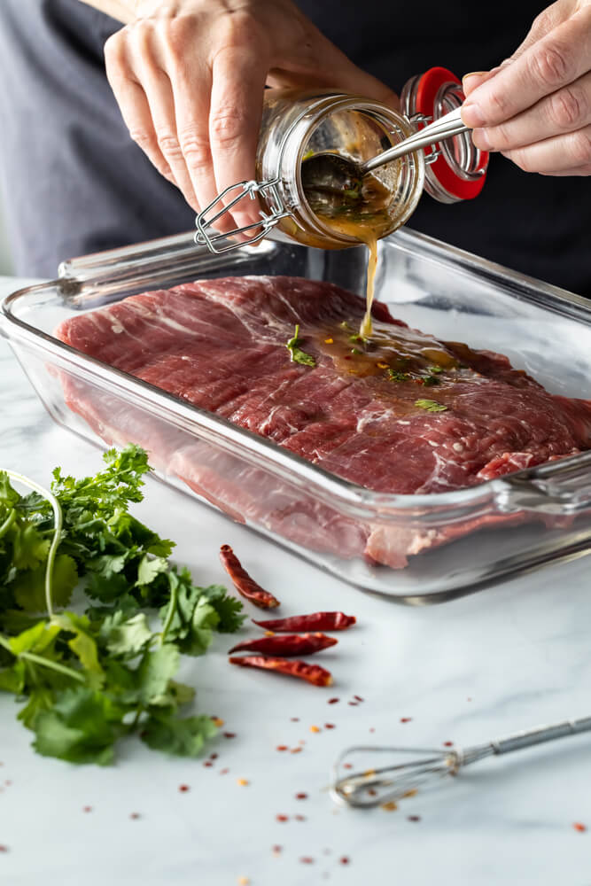
[[[397,106],[292,0],[140,0],[136,9],[105,43],[106,74],[130,136],[196,213],[254,178],[265,84],[334,86]],[[237,227],[260,221],[250,200],[232,216]]]

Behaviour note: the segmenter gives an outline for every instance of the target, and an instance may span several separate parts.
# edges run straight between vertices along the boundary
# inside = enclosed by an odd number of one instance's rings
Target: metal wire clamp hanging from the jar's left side
[[[278,178],[274,178],[268,182],[252,181],[230,184],[229,188],[222,190],[222,193],[218,194],[214,201],[198,214],[195,220],[197,226],[195,243],[199,245],[206,244],[207,249],[209,249],[211,253],[227,253],[230,249],[235,249],[237,245],[258,243],[263,237],[267,237],[269,230],[276,226],[277,221],[280,221],[280,219],[291,214],[285,209],[283,200],[277,189],[279,181]],[[232,198],[227,205],[224,205],[224,198],[231,191],[237,191],[237,195]],[[253,221],[252,224],[245,225],[243,228],[235,228],[227,233],[220,233],[214,228],[215,222],[222,218],[222,215],[231,212],[232,207],[236,206],[240,200],[245,197],[249,197],[251,200],[256,200],[258,199],[258,194],[261,194],[261,196],[265,198],[270,210],[269,213],[263,212],[262,209],[260,210],[261,221]],[[208,215],[216,206],[218,206],[218,204],[222,204],[222,209],[209,218]],[[247,237],[239,244],[236,240],[232,240],[232,237],[236,237],[237,234],[244,234],[245,231],[252,229],[258,231],[258,233],[253,234],[253,237]]]

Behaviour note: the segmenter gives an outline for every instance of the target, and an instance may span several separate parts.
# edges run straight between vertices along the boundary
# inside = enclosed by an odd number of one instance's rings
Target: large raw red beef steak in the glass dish
[[[591,447],[591,401],[549,394],[500,354],[410,330],[379,303],[375,334],[363,341],[363,311],[362,299],[332,284],[229,277],[131,296],[67,320],[57,336],[380,493],[475,486]],[[292,360],[298,349],[307,362]],[[231,456],[188,446],[156,420],[146,428],[115,398],[89,395],[72,379],[64,384],[68,405],[104,439],[141,443],[233,517],[261,522],[269,501],[261,501],[256,468],[245,473]],[[422,537],[355,524],[328,506],[292,501],[285,490],[269,495],[277,499],[275,516],[267,516],[272,531],[393,566],[466,529]],[[293,509],[295,521],[288,519]],[[499,519],[508,517],[483,517],[479,525]]]

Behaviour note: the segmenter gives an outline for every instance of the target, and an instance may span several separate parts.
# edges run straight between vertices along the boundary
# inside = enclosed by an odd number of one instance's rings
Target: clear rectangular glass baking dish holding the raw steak
[[[591,304],[408,229],[379,245],[377,298],[439,338],[507,354],[550,392],[591,395]],[[191,234],[66,261],[4,299],[0,330],[58,424],[99,446],[141,444],[158,476],[355,586],[436,602],[591,550],[591,451],[447,494],[378,494],[74,351],[58,323],[198,278],[287,274],[363,292],[364,248],[266,241],[225,255]],[[81,407],[83,404],[83,407]],[[77,411],[76,411],[77,410]],[[193,511],[195,524],[203,519]],[[396,540],[404,568],[364,556]]]

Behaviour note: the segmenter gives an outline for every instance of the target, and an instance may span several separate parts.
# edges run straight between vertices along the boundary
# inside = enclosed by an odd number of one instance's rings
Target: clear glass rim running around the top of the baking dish
[[[191,237],[192,243],[192,234],[187,235],[187,237]],[[164,246],[171,239],[175,239],[179,243],[178,235],[174,238],[161,238],[160,242]],[[448,246],[433,237],[427,237],[415,231],[409,231],[408,229],[399,230],[384,238],[386,243],[397,240],[402,242],[394,243],[394,245],[405,252],[416,253],[413,245],[420,244],[422,246],[422,255],[426,249],[428,253],[432,253],[430,255],[431,259],[435,258],[447,266],[452,265],[456,270],[460,269],[463,273],[470,274],[470,276],[474,276],[476,273],[476,276],[481,279],[494,281],[502,289],[508,290],[510,287],[511,294],[517,298],[538,303],[540,307],[546,310],[568,316],[571,319],[582,321],[591,326],[591,306],[588,305],[587,299],[583,299],[581,296],[562,290],[552,284],[543,283],[517,271],[511,271],[492,261],[480,259],[478,256],[474,256],[457,247]],[[157,242],[147,241],[142,246],[144,248],[151,246],[153,254],[153,249],[157,248]],[[188,243],[189,240],[187,240]],[[183,245],[183,243],[179,243],[179,245]],[[136,254],[133,247],[128,247],[128,250],[128,253],[126,253],[128,257]],[[121,253],[121,249],[106,251],[105,261],[111,252]],[[96,260],[97,254],[100,253],[94,253],[89,258]],[[197,260],[198,258],[196,258]],[[92,286],[93,280],[100,280],[102,284],[105,284],[106,278],[105,276],[100,276],[99,272],[100,266],[97,266],[96,277],[87,277],[82,274],[81,282],[87,287]],[[173,273],[174,268],[170,268],[171,276]],[[115,276],[113,269],[110,271],[110,276]],[[436,517],[439,524],[446,517],[446,512],[449,512],[450,517],[454,516],[455,519],[458,519],[461,516],[458,515],[458,510],[468,506],[473,508],[476,504],[482,506],[490,505],[499,494],[507,492],[508,483],[504,477],[486,480],[478,484],[478,486],[469,486],[446,493],[431,494],[380,493],[367,487],[359,486],[344,478],[339,478],[336,474],[330,473],[313,462],[308,462],[300,455],[279,447],[272,440],[261,437],[253,433],[253,431],[247,431],[236,424],[231,424],[222,416],[216,416],[214,413],[207,412],[206,409],[194,404],[185,403],[183,400],[175,397],[175,395],[155,385],[129,375],[121,369],[115,369],[107,363],[97,360],[95,357],[90,357],[88,354],[82,354],[82,352],[76,351],[58,338],[51,336],[49,333],[38,329],[31,323],[27,323],[13,314],[12,307],[18,299],[24,299],[26,296],[42,292],[47,295],[56,294],[59,291],[60,285],[64,284],[64,282],[64,277],[60,277],[44,283],[22,287],[5,296],[0,304],[2,309],[0,313],[0,331],[3,331],[4,323],[8,323],[13,329],[16,327],[19,330],[20,337],[27,344],[39,348],[43,343],[43,350],[57,356],[60,363],[65,364],[64,368],[67,369],[68,366],[74,367],[79,376],[85,377],[84,380],[100,382],[102,383],[101,387],[106,390],[110,389],[115,395],[119,394],[121,396],[123,394],[125,396],[130,392],[135,392],[139,397],[138,407],[142,407],[142,401],[144,401],[144,403],[149,403],[152,406],[152,412],[155,409],[158,410],[157,415],[160,418],[165,418],[162,415],[162,410],[164,409],[172,417],[173,421],[180,418],[188,419],[199,430],[206,431],[210,436],[213,435],[218,438],[215,440],[218,445],[220,440],[229,441],[234,445],[239,444],[240,447],[244,448],[245,453],[250,456],[250,460],[259,467],[261,467],[261,456],[264,456],[265,463],[262,466],[272,470],[275,474],[287,471],[289,477],[284,477],[284,479],[288,479],[290,482],[299,482],[300,484],[305,483],[308,491],[310,491],[309,486],[312,484],[315,486],[314,493],[319,492],[323,501],[327,501],[333,507],[337,506],[337,504],[345,505],[348,509],[357,509],[359,513],[356,516],[358,517],[371,517],[383,522],[387,522],[388,518],[396,518],[399,515],[408,518],[408,512],[414,511],[414,516],[417,519],[426,522],[427,518],[432,515]],[[66,277],[66,282],[70,285],[75,284],[75,277]],[[132,289],[134,287],[134,277],[128,277],[125,280],[125,284],[128,289]],[[541,295],[545,297],[543,301],[539,298]],[[123,292],[121,292],[121,298],[125,298]],[[546,299],[550,299],[549,303]],[[3,320],[4,323],[1,322]],[[11,340],[12,337],[8,331],[4,331],[4,335],[9,341]],[[546,480],[562,472],[561,468],[575,463],[581,467],[583,465],[587,466],[587,463],[591,466],[591,450],[578,455],[565,456],[564,459],[556,462],[546,462],[533,468],[515,471],[509,474],[508,477],[528,478],[532,481],[536,479]],[[473,511],[470,511],[470,515],[466,514],[465,516],[474,517],[476,515]]]

